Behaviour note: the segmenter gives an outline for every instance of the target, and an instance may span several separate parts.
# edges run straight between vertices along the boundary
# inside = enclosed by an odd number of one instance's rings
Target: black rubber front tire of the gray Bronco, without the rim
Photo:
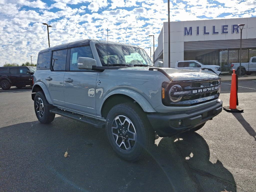
[[[126,149],[123,150],[121,148],[124,147],[124,144],[123,146],[119,147],[119,145],[116,143],[117,136],[112,134],[112,124],[114,123],[115,119],[119,116],[121,118],[128,118],[128,120],[131,121],[130,124],[133,124],[134,130],[136,132],[136,142],[134,146],[128,151]],[[116,120],[115,122],[117,121],[118,120]],[[121,128],[122,126],[123,125],[121,125]],[[127,134],[130,133],[127,132]],[[152,129],[152,126],[148,122],[146,113],[140,108],[140,106],[137,103],[121,103],[115,105],[109,111],[106,118],[106,135],[108,137],[110,145],[112,146],[113,150],[118,154],[118,156],[129,162],[135,162],[138,161],[139,159],[142,159],[145,156],[145,154],[148,151],[150,151],[155,141],[155,133]],[[128,144],[128,146],[131,145]]]

